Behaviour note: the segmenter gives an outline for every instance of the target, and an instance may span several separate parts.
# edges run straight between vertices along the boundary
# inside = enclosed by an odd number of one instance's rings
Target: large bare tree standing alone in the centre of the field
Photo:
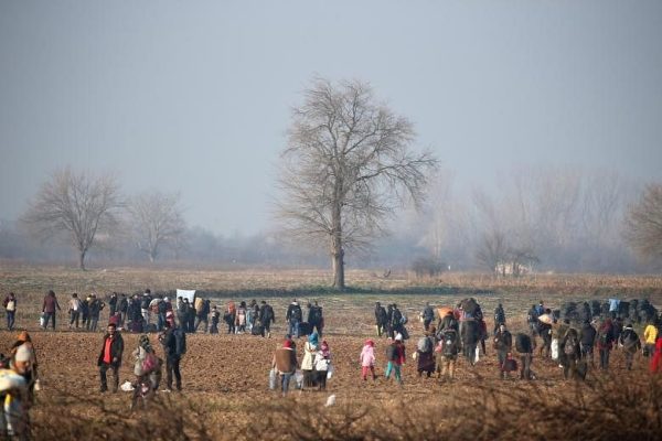
[[[343,289],[345,250],[370,246],[399,204],[419,202],[437,160],[413,151],[412,122],[366,83],[319,78],[303,95],[282,153],[279,214],[290,233],[328,244]]]

